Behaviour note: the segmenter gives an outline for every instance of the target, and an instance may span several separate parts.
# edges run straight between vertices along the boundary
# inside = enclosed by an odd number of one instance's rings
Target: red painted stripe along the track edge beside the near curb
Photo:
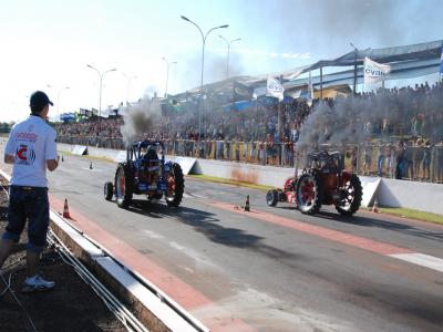
[[[50,195],[50,204],[53,210],[63,211],[64,200],[62,201]],[[203,293],[183,282],[179,278],[169,273],[126,242],[114,237],[97,224],[89,220],[85,216],[72,208],[70,208],[70,215],[72,219],[69,221],[74,227],[101,243],[115,259],[150,280],[184,309],[188,311],[210,312],[212,317],[205,317],[200,320],[212,332],[256,331],[240,319],[233,318],[236,314],[235,312],[228,312],[218,307]]]

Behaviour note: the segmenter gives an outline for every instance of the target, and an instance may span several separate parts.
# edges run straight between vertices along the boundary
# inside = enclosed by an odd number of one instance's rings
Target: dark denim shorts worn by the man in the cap
[[[41,252],[49,226],[48,188],[11,186],[3,239],[18,242],[28,220],[28,250]]]

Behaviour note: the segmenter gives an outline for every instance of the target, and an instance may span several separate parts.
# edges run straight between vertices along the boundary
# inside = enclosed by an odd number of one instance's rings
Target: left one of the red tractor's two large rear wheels
[[[322,199],[321,180],[317,174],[303,174],[297,180],[296,198],[299,210],[312,215],[320,210]]]

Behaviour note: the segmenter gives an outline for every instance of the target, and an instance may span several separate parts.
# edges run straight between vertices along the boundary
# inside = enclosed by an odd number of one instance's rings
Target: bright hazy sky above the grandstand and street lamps
[[[1,0],[0,122],[29,114],[33,91],[50,115],[102,110],[227,76],[285,71],[359,49],[443,39],[441,0]],[[134,77],[135,76],[135,77]],[[132,77],[132,79],[128,79]],[[68,89],[66,89],[68,87]]]

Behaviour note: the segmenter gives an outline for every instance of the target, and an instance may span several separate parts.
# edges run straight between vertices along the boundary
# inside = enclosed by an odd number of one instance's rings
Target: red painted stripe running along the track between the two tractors
[[[251,210],[250,212],[247,212],[247,211],[244,211],[240,209],[235,209],[234,205],[226,204],[226,203],[212,201],[212,203],[209,203],[209,205],[225,209],[225,210],[229,210],[229,211],[233,211],[236,214],[248,216],[250,218],[256,218],[256,219],[260,219],[260,220],[264,220],[267,222],[292,228],[292,229],[300,230],[300,231],[303,231],[303,232],[307,232],[310,235],[318,236],[323,239],[332,240],[332,241],[340,242],[343,245],[353,246],[357,248],[365,249],[365,250],[381,253],[381,255],[414,252],[406,248],[395,247],[395,246],[391,246],[388,243],[369,240],[369,239],[349,235],[349,234],[346,234],[342,231],[332,230],[332,229],[328,229],[328,228],[316,226],[316,225],[309,225],[306,222],[297,221],[295,219],[288,219],[288,218],[270,215],[270,214],[258,211],[258,210]]]

